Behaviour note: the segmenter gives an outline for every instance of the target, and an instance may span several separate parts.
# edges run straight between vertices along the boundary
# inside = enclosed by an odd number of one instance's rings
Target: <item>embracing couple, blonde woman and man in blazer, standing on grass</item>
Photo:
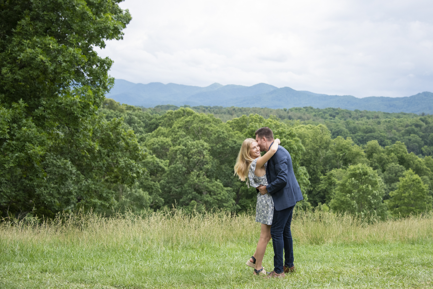
[[[255,140],[243,141],[235,165],[235,174],[239,179],[246,180],[258,192],[255,221],[262,223],[257,249],[246,264],[254,268],[255,275],[267,278],[284,277],[284,273],[296,270],[290,224],[296,202],[303,199],[291,156],[279,144],[280,140],[274,140],[269,127],[259,128],[255,132]],[[260,156],[263,151],[266,153]],[[263,268],[262,260],[271,238],[274,270],[269,273]]]

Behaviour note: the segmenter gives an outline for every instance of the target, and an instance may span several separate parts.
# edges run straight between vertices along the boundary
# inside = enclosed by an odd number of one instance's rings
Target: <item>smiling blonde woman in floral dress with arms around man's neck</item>
[[[260,156],[259,144],[254,139],[246,139],[243,141],[238,158],[236,159],[235,175],[239,179],[247,182],[247,185],[252,185],[257,188],[259,185],[268,185],[266,179],[266,166],[268,160],[275,154],[278,149],[280,140],[275,139],[271,148],[265,155]],[[251,259],[246,262],[250,267],[254,268],[255,275],[266,275],[267,272],[262,266],[263,257],[265,256],[266,246],[271,240],[271,224],[274,215],[274,201],[269,193],[262,195],[257,194],[257,205],[255,208],[255,221],[262,223],[260,231],[260,239],[257,243],[257,248]]]

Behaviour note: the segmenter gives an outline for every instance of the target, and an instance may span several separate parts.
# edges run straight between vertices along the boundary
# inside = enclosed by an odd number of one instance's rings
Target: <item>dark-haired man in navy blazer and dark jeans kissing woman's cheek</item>
[[[268,151],[274,142],[274,133],[269,127],[256,130],[255,140],[260,151]],[[268,161],[266,169],[267,186],[258,187],[260,193],[271,194],[274,201],[274,218],[271,226],[272,245],[274,246],[274,271],[268,277],[285,277],[284,273],[294,272],[293,239],[290,231],[293,208],[301,201],[301,188],[295,178],[290,153],[282,146]],[[283,263],[284,250],[284,263]]]

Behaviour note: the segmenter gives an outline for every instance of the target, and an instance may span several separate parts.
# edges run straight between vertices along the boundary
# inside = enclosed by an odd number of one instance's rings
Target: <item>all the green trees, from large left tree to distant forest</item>
[[[105,99],[112,61],[94,48],[122,39],[131,16],[119,2],[0,3],[2,217],[247,211],[256,192],[233,166],[242,141],[264,126],[291,153],[302,208],[382,217],[432,208],[431,116]]]

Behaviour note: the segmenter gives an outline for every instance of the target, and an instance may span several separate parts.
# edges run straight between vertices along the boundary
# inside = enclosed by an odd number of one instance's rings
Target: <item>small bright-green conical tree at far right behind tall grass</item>
[[[397,183],[397,190],[389,193],[391,198],[386,200],[386,204],[394,216],[421,213],[432,208],[432,197],[427,194],[428,185],[424,185],[421,178],[409,169]]]

